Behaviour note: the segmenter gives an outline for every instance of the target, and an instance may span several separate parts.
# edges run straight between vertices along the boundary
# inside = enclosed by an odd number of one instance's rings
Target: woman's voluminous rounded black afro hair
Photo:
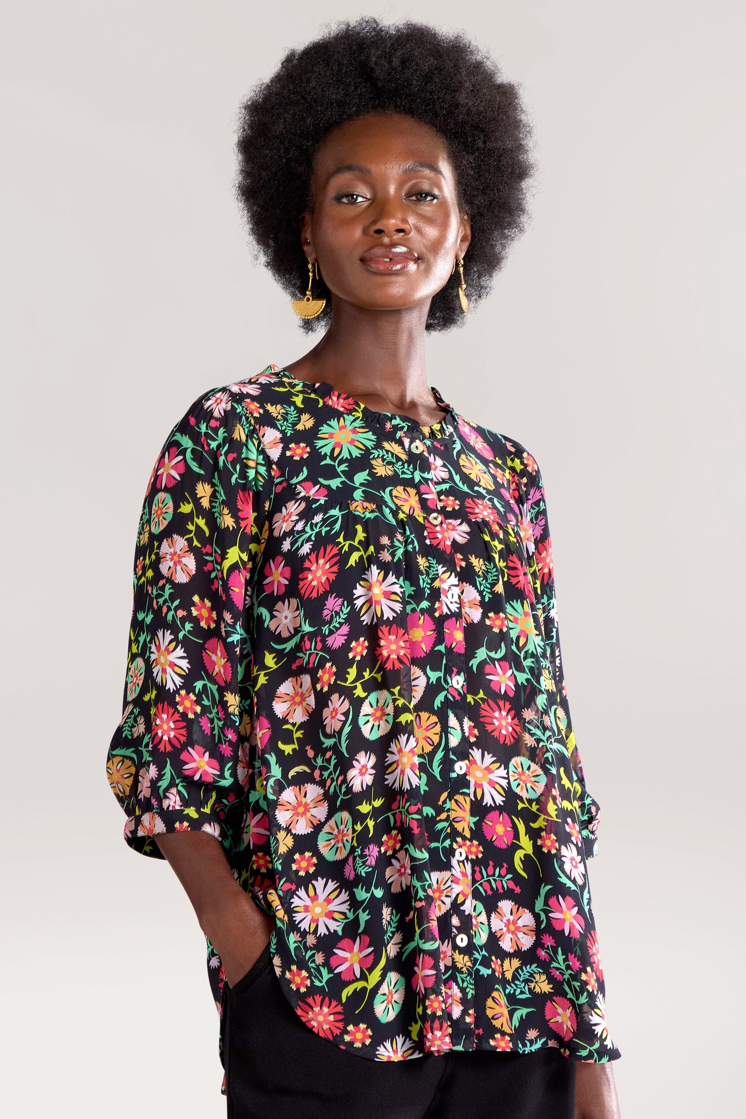
[[[527,220],[527,182],[535,171],[531,125],[514,84],[462,32],[374,17],[331,26],[290,50],[256,85],[238,113],[236,192],[256,256],[291,298],[303,294],[308,266],[299,216],[312,208],[315,150],[338,124],[371,112],[414,116],[445,139],[461,203],[471,218],[464,262],[470,307],[487,295],[512,241]],[[313,330],[328,326],[331,293],[314,280],[327,305]],[[447,330],[464,316],[456,288],[435,294],[427,330]]]

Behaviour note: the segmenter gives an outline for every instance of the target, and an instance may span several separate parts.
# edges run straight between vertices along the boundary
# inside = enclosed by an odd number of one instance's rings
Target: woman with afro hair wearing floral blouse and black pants
[[[425,372],[529,137],[472,44],[375,19],[244,105],[252,234],[324,332],[166,440],[108,756],[206,934],[234,1119],[617,1115],[541,477]]]

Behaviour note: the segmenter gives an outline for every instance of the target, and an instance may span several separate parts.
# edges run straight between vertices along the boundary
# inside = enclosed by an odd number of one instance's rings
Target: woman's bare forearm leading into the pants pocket
[[[233,876],[225,852],[206,831],[173,831],[157,836],[192,904],[199,925],[223,960],[229,982],[246,970],[274,928]]]

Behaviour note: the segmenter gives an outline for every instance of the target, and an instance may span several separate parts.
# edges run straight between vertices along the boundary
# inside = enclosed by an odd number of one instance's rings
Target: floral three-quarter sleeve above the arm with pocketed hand
[[[208,395],[172,429],[145,492],[123,714],[106,772],[124,837],[201,830],[245,846],[252,665],[247,610],[272,464],[245,412]]]

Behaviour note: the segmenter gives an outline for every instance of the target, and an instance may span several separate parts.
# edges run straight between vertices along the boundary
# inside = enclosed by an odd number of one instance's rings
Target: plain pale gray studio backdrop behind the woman
[[[0,1104],[225,1115],[201,932],[125,846],[104,762],[155,453],[197,395],[312,345],[252,265],[237,105],[362,12],[462,27],[522,84],[532,223],[465,329],[428,340],[429,383],[545,476],[625,1119],[735,1119],[746,27],[711,0],[7,15]]]

